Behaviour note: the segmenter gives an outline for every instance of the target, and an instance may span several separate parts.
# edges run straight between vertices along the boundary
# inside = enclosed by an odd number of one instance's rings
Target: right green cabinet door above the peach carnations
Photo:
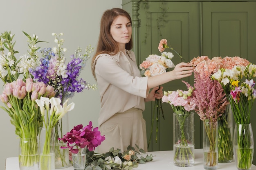
[[[256,63],[256,2],[203,2],[202,55]]]

